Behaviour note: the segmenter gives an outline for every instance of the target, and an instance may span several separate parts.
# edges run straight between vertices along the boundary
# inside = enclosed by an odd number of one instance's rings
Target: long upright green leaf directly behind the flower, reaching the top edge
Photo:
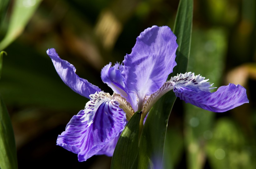
[[[175,75],[186,72],[190,54],[193,0],[181,0],[175,20],[174,34],[179,45],[176,51]],[[155,103],[150,110],[143,127],[138,154],[138,168],[161,168],[165,134],[171,109],[176,100],[175,94],[169,92]]]

